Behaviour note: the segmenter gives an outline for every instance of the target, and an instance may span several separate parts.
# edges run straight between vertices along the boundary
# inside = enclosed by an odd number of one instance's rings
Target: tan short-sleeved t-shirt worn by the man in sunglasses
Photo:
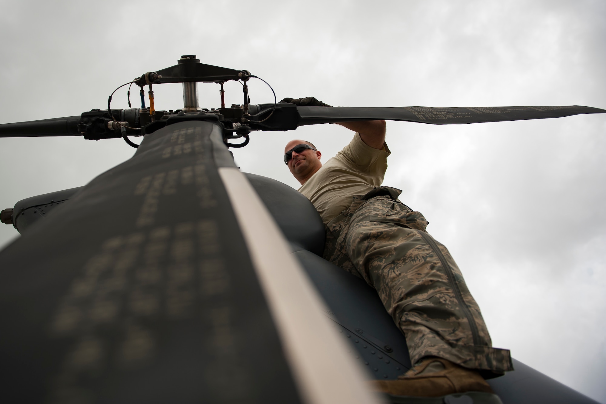
[[[351,206],[353,195],[364,195],[381,186],[391,154],[385,143],[383,150],[370,147],[359,133],[337,155],[328,160],[301,188],[318,209],[324,224]]]

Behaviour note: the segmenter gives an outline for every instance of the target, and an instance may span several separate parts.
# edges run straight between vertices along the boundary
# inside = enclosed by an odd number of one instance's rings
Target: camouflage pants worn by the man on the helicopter
[[[356,195],[330,221],[324,258],[364,278],[404,332],[412,363],[441,357],[485,376],[513,370],[507,349],[492,348],[478,304],[447,248],[400,190]]]

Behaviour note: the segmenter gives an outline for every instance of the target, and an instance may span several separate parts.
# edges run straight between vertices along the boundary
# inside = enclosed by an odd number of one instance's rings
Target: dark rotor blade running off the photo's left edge
[[[50,120],[0,124],[0,138],[24,138],[32,136],[79,136],[80,115],[51,118]]]

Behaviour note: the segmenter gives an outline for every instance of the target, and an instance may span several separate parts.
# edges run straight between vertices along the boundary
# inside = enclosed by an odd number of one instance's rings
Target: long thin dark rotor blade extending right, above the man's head
[[[556,107],[297,107],[298,126],[347,121],[408,121],[435,125],[561,118],[606,113],[584,106]]]

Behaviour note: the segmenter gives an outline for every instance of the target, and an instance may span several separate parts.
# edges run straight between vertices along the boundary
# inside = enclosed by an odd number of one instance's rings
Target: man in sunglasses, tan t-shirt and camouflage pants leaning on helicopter
[[[327,106],[313,97],[282,101]],[[401,190],[381,186],[391,153],[385,121],[340,124],[356,133],[324,165],[304,140],[288,142],[284,161],[327,228],[324,258],[373,286],[406,337],[413,368],[373,385],[396,396],[491,393],[484,377],[513,370],[509,351],[491,348],[461,271],[423,215],[398,200]]]

